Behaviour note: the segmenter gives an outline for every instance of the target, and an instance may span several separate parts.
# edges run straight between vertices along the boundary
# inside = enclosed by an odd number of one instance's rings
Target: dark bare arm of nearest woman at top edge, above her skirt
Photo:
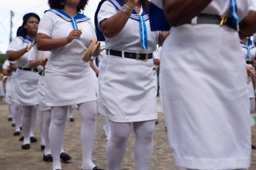
[[[162,0],[170,26],[181,26],[197,16],[212,0]]]

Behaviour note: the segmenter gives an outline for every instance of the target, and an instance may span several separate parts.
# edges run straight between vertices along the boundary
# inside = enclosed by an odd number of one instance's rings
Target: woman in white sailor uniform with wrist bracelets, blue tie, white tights
[[[131,125],[135,132],[135,169],[148,169],[157,118],[153,77],[158,33],[150,31],[148,1],[101,1],[95,15],[98,40],[106,42],[99,74],[100,114],[110,125],[108,169],[118,170]],[[103,34],[102,34],[103,33]]]

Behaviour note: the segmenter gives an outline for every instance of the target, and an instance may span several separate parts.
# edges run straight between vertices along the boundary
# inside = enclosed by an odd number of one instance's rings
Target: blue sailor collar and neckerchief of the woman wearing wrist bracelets
[[[110,3],[113,3],[113,5],[121,10],[123,7],[124,3],[121,0],[102,0],[98,4],[95,17],[94,17],[94,24],[96,26],[96,34],[97,34],[97,39],[100,41],[105,41],[104,35],[102,32],[98,29],[98,12],[100,11],[101,5],[104,3],[104,1],[110,1]],[[146,21],[148,21],[149,16],[146,13],[146,11],[143,11],[141,15],[137,14],[135,10],[132,11],[130,15],[131,19],[135,19],[136,21],[139,22],[139,30],[140,30],[140,37],[141,37],[141,48],[147,49],[148,48],[148,35],[147,35],[147,28],[146,28]]]

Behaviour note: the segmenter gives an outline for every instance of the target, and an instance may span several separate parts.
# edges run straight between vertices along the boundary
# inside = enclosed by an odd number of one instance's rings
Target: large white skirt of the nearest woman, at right
[[[175,163],[246,169],[251,124],[237,32],[218,25],[172,28],[162,47],[160,96]]]

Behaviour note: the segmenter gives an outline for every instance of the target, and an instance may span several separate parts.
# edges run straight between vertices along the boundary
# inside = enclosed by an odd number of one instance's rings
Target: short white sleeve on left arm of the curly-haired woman
[[[40,20],[37,33],[46,34],[47,36],[52,37],[54,20],[52,14],[51,11],[44,13]]]

